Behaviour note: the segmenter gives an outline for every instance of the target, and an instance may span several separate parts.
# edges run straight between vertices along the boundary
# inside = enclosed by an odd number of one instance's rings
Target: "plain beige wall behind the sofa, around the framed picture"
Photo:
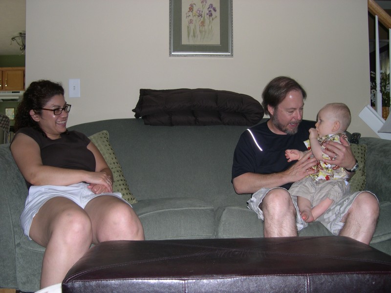
[[[189,0],[190,1],[190,0]],[[26,84],[81,80],[68,126],[132,118],[140,88],[209,87],[261,101],[287,75],[307,90],[304,118],[328,102],[369,103],[367,0],[234,0],[234,57],[169,57],[169,0],[28,0]]]

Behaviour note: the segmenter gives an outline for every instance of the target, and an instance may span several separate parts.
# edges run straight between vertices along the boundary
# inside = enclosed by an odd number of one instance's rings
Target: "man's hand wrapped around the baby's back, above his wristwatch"
[[[323,146],[326,147],[323,152],[331,158],[330,160],[324,159],[325,163],[349,170],[356,164],[356,159],[346,140],[342,139],[341,144],[327,141]]]

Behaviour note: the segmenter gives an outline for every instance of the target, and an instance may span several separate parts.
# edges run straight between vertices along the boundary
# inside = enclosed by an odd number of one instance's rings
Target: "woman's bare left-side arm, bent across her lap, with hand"
[[[37,142],[28,135],[18,133],[11,144],[11,153],[23,177],[32,185],[68,186],[80,182],[102,184],[108,189],[109,177],[105,172],[89,172],[60,167],[44,166]],[[111,171],[110,171],[110,175]]]

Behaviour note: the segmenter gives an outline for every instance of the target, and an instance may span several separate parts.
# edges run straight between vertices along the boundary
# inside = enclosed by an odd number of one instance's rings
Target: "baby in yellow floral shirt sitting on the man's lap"
[[[317,164],[313,168],[316,168],[318,172],[295,182],[289,189],[290,194],[297,196],[300,215],[305,222],[315,221],[334,201],[341,199],[349,191],[346,180],[349,178],[348,173],[342,167],[326,164],[323,159],[333,160],[336,155],[330,158],[322,149],[325,148],[323,145],[326,141],[341,143],[341,139],[348,140],[345,131],[350,121],[348,106],[342,103],[332,103],[325,105],[319,111],[316,129],[309,129],[309,140],[304,144],[317,159]],[[288,162],[291,162],[302,159],[305,153],[297,149],[287,149],[285,157]]]

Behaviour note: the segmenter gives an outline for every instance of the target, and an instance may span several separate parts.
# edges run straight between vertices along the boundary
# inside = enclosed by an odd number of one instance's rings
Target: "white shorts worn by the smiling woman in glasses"
[[[24,234],[28,236],[28,238],[31,240],[29,233],[34,216],[37,214],[39,209],[41,209],[43,204],[53,197],[66,197],[71,201],[75,202],[82,209],[87,206],[87,203],[91,199],[101,195],[116,196],[122,199],[128,205],[130,205],[126,200],[122,198],[122,195],[119,192],[95,194],[91,191],[91,189],[88,188],[88,185],[89,184],[87,183],[77,183],[69,186],[31,186],[28,190],[28,196],[26,198],[24,210],[21,215],[21,225]]]

